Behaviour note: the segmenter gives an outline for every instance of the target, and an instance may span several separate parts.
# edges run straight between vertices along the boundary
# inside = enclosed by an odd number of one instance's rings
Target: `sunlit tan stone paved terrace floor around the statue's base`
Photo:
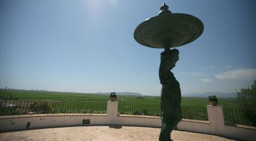
[[[0,133],[0,140],[158,140],[160,128],[76,126]],[[173,140],[231,140],[216,135],[173,131]]]

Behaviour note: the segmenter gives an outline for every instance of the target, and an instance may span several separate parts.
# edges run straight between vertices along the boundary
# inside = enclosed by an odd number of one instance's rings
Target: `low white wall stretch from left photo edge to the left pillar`
[[[2,118],[0,119],[0,132],[24,130],[27,123],[29,129],[63,126],[85,126],[83,119],[90,119],[90,125],[105,125],[106,116],[52,116],[25,117],[25,118]]]

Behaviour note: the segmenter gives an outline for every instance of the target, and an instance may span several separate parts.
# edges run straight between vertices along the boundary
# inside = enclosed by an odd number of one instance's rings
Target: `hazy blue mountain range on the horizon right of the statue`
[[[224,92],[205,92],[205,93],[191,93],[182,94],[182,97],[208,97],[209,95],[216,95],[218,98],[236,98],[236,92],[224,93]]]

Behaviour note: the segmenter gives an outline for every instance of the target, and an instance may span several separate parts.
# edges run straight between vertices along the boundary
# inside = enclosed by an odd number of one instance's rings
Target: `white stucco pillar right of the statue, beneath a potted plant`
[[[222,107],[207,105],[207,113],[212,134],[223,134],[224,116]]]

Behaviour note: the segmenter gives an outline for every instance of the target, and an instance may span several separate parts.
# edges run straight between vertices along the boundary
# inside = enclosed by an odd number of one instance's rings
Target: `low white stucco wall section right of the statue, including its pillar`
[[[224,124],[222,107],[207,105],[208,122],[182,120],[177,129],[182,131],[200,132],[221,135],[231,139],[256,140],[256,128],[239,127]]]

